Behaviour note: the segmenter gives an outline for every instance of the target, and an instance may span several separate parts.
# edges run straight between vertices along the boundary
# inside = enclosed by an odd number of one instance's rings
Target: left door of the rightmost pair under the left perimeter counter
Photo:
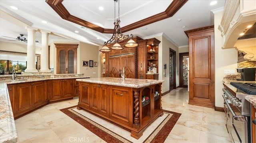
[[[62,93],[62,80],[55,79],[51,81],[50,101],[59,100]]]

